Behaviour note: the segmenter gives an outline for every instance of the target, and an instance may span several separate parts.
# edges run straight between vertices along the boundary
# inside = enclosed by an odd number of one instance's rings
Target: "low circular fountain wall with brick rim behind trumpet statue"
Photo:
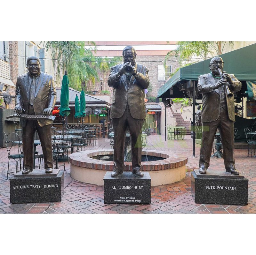
[[[107,155],[113,155],[113,150],[86,150],[70,154],[71,177],[80,182],[103,185],[106,172],[113,171],[113,161],[95,158]],[[148,150],[142,150],[142,155],[160,158],[141,162],[141,171],[149,172],[151,186],[171,184],[185,178],[188,158],[179,157],[171,152]],[[124,162],[124,171],[132,171],[132,162]]]

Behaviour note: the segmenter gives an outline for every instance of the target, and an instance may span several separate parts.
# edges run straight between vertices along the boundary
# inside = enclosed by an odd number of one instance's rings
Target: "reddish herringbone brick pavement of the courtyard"
[[[110,148],[109,139],[98,139],[96,146],[86,149]],[[41,148],[38,146],[39,152]],[[169,151],[188,157],[186,177],[169,185],[151,188],[150,205],[104,204],[103,186],[85,184],[70,177],[70,164],[64,172],[64,195],[61,202],[10,204],[9,180],[7,177],[7,150],[0,149],[0,214],[254,214],[256,213],[256,158],[247,157],[246,149],[236,149],[236,168],[248,178],[248,205],[196,204],[191,195],[190,171],[198,167],[200,145],[196,144],[196,157],[192,157],[192,139],[164,141],[164,136],[149,136],[146,149]],[[212,158],[211,169],[224,169],[223,159]],[[42,164],[43,165],[43,164]],[[15,161],[10,161],[15,169]],[[64,169],[60,166],[60,169]]]

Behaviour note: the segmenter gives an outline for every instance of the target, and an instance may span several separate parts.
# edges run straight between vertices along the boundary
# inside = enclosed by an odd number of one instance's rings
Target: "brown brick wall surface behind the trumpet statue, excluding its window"
[[[138,64],[143,64],[148,67],[149,72],[149,80],[152,84],[152,91],[147,94],[147,97],[152,96],[156,97],[158,90],[164,85],[164,80],[158,80],[158,65],[163,65],[164,56],[137,56],[136,62]],[[172,72],[174,72],[177,68],[180,67],[178,61],[175,60],[175,57],[170,58],[168,62],[169,65],[172,65]],[[110,70],[109,70],[110,71]],[[99,78],[102,79],[102,90],[108,90],[110,92],[110,100],[113,95],[113,88],[108,86],[108,76],[109,73],[106,74],[98,71]],[[90,90],[90,83],[87,84],[88,90]],[[95,85],[92,85],[92,91],[101,91],[101,81],[96,81]]]

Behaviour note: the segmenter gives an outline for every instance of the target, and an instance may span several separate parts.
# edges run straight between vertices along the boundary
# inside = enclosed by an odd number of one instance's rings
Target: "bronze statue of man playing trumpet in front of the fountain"
[[[137,53],[132,46],[123,50],[124,64],[110,69],[108,86],[114,88],[110,117],[114,128],[114,169],[116,177],[124,171],[124,141],[129,128],[132,147],[132,173],[143,176],[141,169],[141,131],[146,118],[144,90],[149,85],[149,69],[137,64]]]

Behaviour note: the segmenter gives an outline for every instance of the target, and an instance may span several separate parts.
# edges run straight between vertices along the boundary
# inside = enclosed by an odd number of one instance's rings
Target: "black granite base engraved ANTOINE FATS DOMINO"
[[[21,172],[9,178],[11,203],[60,202],[64,193],[64,171],[36,169],[29,174]]]

